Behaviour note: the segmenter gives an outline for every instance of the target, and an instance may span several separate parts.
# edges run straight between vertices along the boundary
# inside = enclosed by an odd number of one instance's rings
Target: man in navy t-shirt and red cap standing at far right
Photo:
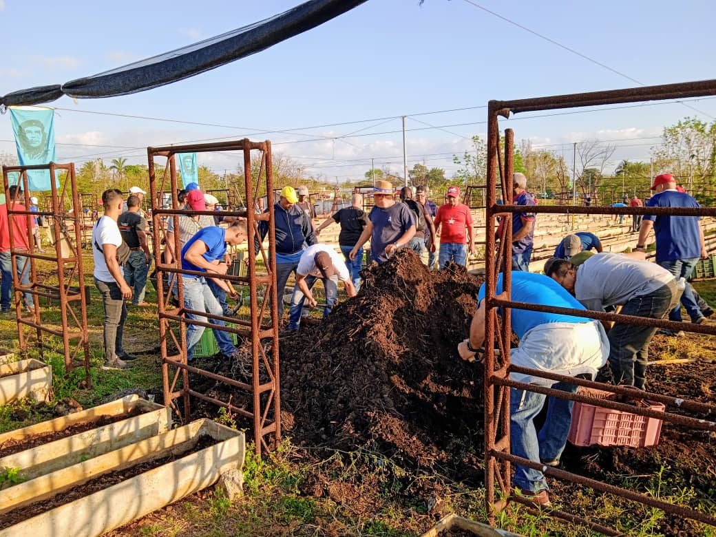
[[[700,207],[697,200],[687,193],[679,192],[676,180],[669,173],[654,178],[651,187],[654,195],[647,201],[647,207]],[[635,250],[644,251],[647,237],[654,228],[657,240],[657,263],[671,272],[674,278],[689,279],[699,258],[707,258],[704,230],[698,216],[644,216],[639,227],[639,241]],[[681,296],[692,323],[700,324],[705,316],[699,308],[692,286],[687,285]],[[669,313],[669,320],[681,321],[681,305]],[[667,331],[669,335],[675,335]]]

